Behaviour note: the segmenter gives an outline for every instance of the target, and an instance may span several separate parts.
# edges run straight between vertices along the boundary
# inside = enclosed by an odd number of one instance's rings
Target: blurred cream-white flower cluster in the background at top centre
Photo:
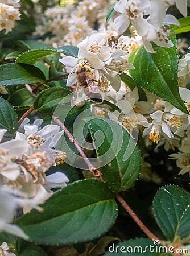
[[[86,36],[94,32],[104,32],[105,16],[111,3],[111,0],[84,0],[77,6],[49,8],[45,13],[46,22],[37,26],[35,34],[52,32],[55,36],[47,38],[45,43],[58,47],[64,44],[77,46]],[[103,27],[98,31],[101,26]]]

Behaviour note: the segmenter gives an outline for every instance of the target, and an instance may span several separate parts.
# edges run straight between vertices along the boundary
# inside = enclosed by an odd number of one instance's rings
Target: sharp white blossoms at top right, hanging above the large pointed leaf
[[[137,34],[142,36],[143,44],[150,53],[156,53],[150,41],[161,47],[172,47],[167,30],[163,24],[177,24],[179,22],[172,15],[166,15],[166,2],[164,0],[138,1],[121,0],[115,5],[115,11],[121,13],[115,21],[115,28],[122,34],[130,24],[133,25]],[[150,15],[144,18],[144,15]]]

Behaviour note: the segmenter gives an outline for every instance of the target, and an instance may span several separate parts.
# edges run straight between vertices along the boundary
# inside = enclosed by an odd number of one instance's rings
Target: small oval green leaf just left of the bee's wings
[[[58,105],[69,93],[69,90],[64,88],[54,87],[45,89],[36,96],[34,109],[38,112],[48,112]]]

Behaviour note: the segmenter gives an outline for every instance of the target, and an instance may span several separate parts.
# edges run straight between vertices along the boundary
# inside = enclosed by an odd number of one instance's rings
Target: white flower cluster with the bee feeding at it
[[[84,63],[88,63],[92,79],[99,82],[100,87],[107,88],[109,84],[115,90],[119,90],[121,79],[119,73],[133,69],[133,65],[123,57],[126,54],[125,47],[119,46],[113,49],[107,43],[105,33],[97,33],[85,38],[78,44],[79,52],[77,58],[65,56],[59,61],[66,67],[73,68],[67,79],[67,86],[76,84],[76,72]],[[120,48],[120,49],[119,49]],[[93,69],[90,69],[90,67]],[[91,72],[92,71],[92,72]],[[102,81],[105,81],[104,84]]]

